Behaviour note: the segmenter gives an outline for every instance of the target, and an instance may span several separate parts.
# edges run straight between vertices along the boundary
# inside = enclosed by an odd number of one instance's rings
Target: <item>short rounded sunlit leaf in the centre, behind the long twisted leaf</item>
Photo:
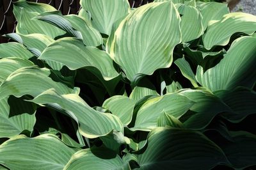
[[[129,125],[136,102],[125,96],[114,96],[105,100],[102,107],[107,108],[116,115],[124,125]]]

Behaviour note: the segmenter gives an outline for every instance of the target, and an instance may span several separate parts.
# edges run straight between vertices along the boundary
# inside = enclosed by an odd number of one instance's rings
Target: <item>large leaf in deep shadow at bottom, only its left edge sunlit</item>
[[[155,128],[138,155],[140,169],[211,169],[223,163],[223,151],[205,135],[179,128]]]

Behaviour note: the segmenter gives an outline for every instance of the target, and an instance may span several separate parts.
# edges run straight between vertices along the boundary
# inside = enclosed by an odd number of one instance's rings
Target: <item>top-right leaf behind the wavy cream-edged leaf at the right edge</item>
[[[223,15],[229,13],[228,6],[225,3],[202,3],[196,6],[202,14],[202,24],[204,31],[211,20],[221,20]]]

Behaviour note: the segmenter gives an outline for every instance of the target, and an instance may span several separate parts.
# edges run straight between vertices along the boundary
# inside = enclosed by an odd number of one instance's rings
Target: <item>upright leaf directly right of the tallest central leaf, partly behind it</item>
[[[178,4],[176,8],[179,10],[181,16],[180,29],[182,35],[182,42],[189,42],[201,36],[203,31],[202,15],[193,6],[186,6],[185,4]]]

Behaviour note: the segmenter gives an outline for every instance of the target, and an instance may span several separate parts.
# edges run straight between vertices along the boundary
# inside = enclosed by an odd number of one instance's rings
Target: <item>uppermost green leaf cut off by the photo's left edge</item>
[[[0,58],[32,58],[33,54],[29,52],[24,46],[19,43],[1,43],[0,44]]]

